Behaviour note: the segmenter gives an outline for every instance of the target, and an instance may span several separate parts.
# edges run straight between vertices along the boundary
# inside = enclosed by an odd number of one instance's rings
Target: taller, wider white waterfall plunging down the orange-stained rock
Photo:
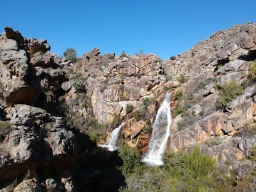
[[[170,99],[172,94],[166,93],[161,107],[157,111],[156,120],[153,124],[152,136],[148,143],[148,151],[141,159],[143,163],[161,166],[164,164],[162,154],[167,146],[172,122]]]

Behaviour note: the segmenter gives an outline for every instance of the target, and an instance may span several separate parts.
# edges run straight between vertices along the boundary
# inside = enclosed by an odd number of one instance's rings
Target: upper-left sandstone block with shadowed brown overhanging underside
[[[10,42],[12,45],[10,45]],[[40,84],[33,67],[28,65],[26,51],[17,50],[17,43],[6,40],[0,52],[0,76],[8,104],[38,104]]]

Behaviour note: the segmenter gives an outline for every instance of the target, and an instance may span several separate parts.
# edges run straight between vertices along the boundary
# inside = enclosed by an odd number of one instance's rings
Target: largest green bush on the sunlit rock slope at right
[[[236,84],[234,81],[223,83],[220,86],[219,98],[216,103],[217,109],[225,109],[230,100],[236,99],[243,93],[243,86]]]

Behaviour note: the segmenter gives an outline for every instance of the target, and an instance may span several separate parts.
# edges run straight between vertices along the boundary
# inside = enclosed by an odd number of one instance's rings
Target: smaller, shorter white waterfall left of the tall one
[[[124,125],[124,124],[122,124],[122,125]],[[114,129],[111,132],[111,134],[109,136],[109,140],[106,142],[106,144],[99,145],[99,147],[108,148],[109,151],[117,150],[118,147],[116,145],[118,142],[119,132],[120,132],[120,129],[122,128],[122,125],[120,125],[119,127],[117,127],[116,129]]]

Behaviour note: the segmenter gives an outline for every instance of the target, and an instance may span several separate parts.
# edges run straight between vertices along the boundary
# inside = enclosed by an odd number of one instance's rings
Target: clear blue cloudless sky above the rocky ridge
[[[1,2],[0,28],[26,38],[45,38],[51,51],[68,47],[78,56],[142,49],[163,60],[184,52],[219,29],[256,22],[255,0],[13,0]]]

